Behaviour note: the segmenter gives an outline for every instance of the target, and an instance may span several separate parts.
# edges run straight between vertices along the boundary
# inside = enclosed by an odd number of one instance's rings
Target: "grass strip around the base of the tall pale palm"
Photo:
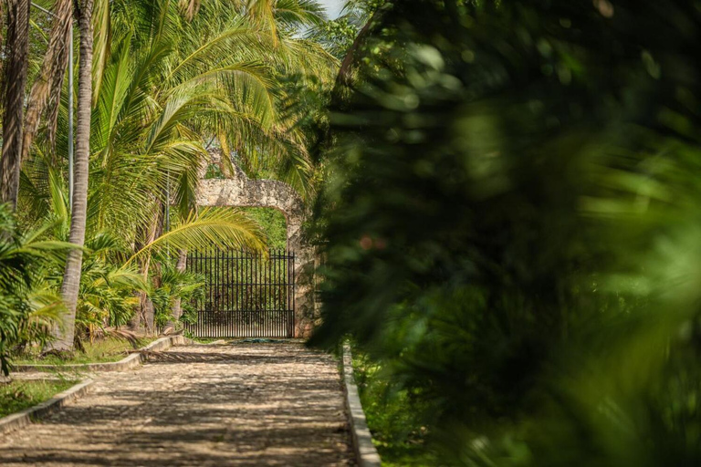
[[[157,337],[144,337],[140,339],[139,348],[153,342]],[[109,363],[120,361],[129,355],[134,348],[122,339],[101,339],[95,342],[86,342],[84,352],[74,350],[68,354],[42,356],[39,348],[27,349],[25,353],[13,358],[16,365],[80,365],[85,363]]]

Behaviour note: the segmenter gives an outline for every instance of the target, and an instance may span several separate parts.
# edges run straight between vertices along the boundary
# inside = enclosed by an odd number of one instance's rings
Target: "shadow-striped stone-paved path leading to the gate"
[[[0,437],[0,465],[352,465],[336,361],[299,344],[173,348]]]

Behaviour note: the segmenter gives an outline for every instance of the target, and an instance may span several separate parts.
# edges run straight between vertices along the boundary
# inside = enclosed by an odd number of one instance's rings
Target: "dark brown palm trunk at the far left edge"
[[[3,157],[0,161],[0,202],[17,205],[22,157],[22,119],[25,109],[26,67],[29,61],[30,0],[10,0],[7,6],[7,67]]]

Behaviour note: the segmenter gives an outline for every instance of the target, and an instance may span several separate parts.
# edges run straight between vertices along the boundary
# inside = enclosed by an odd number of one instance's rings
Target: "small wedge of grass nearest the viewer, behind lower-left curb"
[[[77,381],[68,379],[32,379],[0,383],[0,417],[11,415],[49,400],[76,383]]]

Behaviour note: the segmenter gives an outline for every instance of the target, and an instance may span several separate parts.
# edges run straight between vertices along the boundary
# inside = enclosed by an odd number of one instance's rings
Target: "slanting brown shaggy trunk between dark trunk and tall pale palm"
[[[34,137],[39,129],[41,114],[47,107],[58,109],[63,76],[68,66],[68,47],[70,44],[70,30],[73,27],[73,3],[71,0],[58,0],[54,5],[56,17],[51,25],[51,33],[48,39],[47,53],[41,63],[39,76],[32,85],[29,99],[26,104],[25,127],[22,143],[22,160],[25,161],[32,148]],[[72,65],[72,64],[71,64]],[[68,89],[73,92],[73,89]],[[50,100],[49,100],[50,99]],[[49,127],[49,140],[54,142],[56,130],[57,111],[51,111]]]

